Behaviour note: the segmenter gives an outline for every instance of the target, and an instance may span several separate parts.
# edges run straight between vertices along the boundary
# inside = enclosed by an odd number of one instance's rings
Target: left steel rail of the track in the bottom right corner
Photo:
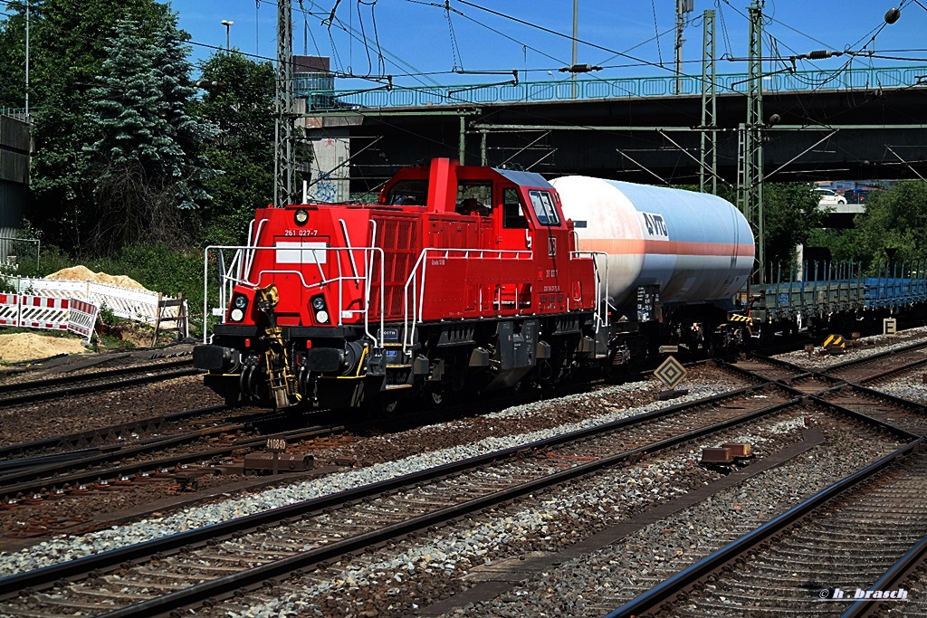
[[[807,514],[815,511],[832,498],[857,486],[860,482],[870,478],[873,474],[885,470],[901,456],[907,455],[917,448],[920,448],[923,441],[924,438],[919,437],[917,440],[886,455],[883,459],[870,463],[870,465],[856,473],[846,476],[832,486],[819,491],[811,498],[807,498],[804,502],[793,507],[789,511],[785,511],[775,519],[764,523],[754,531],[732,541],[702,560],[695,562],[692,566],[673,575],[663,583],[654,586],[635,599],[631,599],[614,612],[606,614],[604,618],[629,618],[630,616],[639,616],[644,612],[650,612],[656,608],[662,608],[663,605],[667,605],[673,599],[677,599],[679,594],[684,594],[684,590],[693,586],[696,582],[705,578],[705,576],[716,572],[723,565],[734,560],[736,557],[750,549],[756,548],[776,533],[797,523]]]

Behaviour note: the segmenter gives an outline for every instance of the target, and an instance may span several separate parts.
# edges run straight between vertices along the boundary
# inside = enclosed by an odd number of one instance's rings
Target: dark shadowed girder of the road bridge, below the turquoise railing
[[[927,177],[927,123],[918,121],[924,92],[919,87],[764,93],[764,178],[785,182]],[[365,108],[328,113],[314,122],[319,128],[311,133],[324,137],[337,126],[343,134],[348,127],[354,150],[382,137],[353,160],[352,190],[373,186],[400,167],[434,157],[458,158],[461,117],[467,163],[485,155],[489,165],[508,160],[509,167],[551,175],[697,184],[701,114],[700,96]],[[737,126],[744,115],[743,95],[717,96],[720,183],[736,183]],[[774,116],[779,122],[770,126]],[[539,140],[542,133],[546,135]]]

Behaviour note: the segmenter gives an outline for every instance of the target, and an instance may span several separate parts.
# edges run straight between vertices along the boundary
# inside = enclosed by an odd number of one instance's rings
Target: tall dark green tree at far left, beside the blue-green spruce
[[[0,94],[3,104],[23,106],[24,3],[31,6],[30,107],[32,111],[29,218],[44,243],[72,254],[92,248],[87,231],[98,219],[87,115],[88,91],[106,57],[107,34],[118,19],[142,24],[151,35],[167,15],[156,0],[17,0],[0,26]]]

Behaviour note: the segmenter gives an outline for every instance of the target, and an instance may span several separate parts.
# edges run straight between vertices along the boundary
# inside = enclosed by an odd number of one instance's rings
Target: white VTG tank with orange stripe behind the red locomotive
[[[614,307],[628,307],[638,286],[654,284],[663,304],[730,301],[750,275],[750,225],[717,195],[586,176],[551,183],[579,250],[608,255]]]

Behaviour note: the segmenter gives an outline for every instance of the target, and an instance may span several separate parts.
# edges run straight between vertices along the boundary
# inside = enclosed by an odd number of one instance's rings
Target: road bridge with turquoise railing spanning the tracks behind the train
[[[434,157],[551,175],[698,183],[701,142],[712,134],[719,182],[735,184],[747,75],[717,75],[716,83],[714,126],[710,115],[703,125],[701,76],[298,96],[307,100],[317,187],[349,176],[351,192],[371,189],[400,167]],[[927,66],[779,72],[763,78],[763,105],[769,182],[927,177]]]

